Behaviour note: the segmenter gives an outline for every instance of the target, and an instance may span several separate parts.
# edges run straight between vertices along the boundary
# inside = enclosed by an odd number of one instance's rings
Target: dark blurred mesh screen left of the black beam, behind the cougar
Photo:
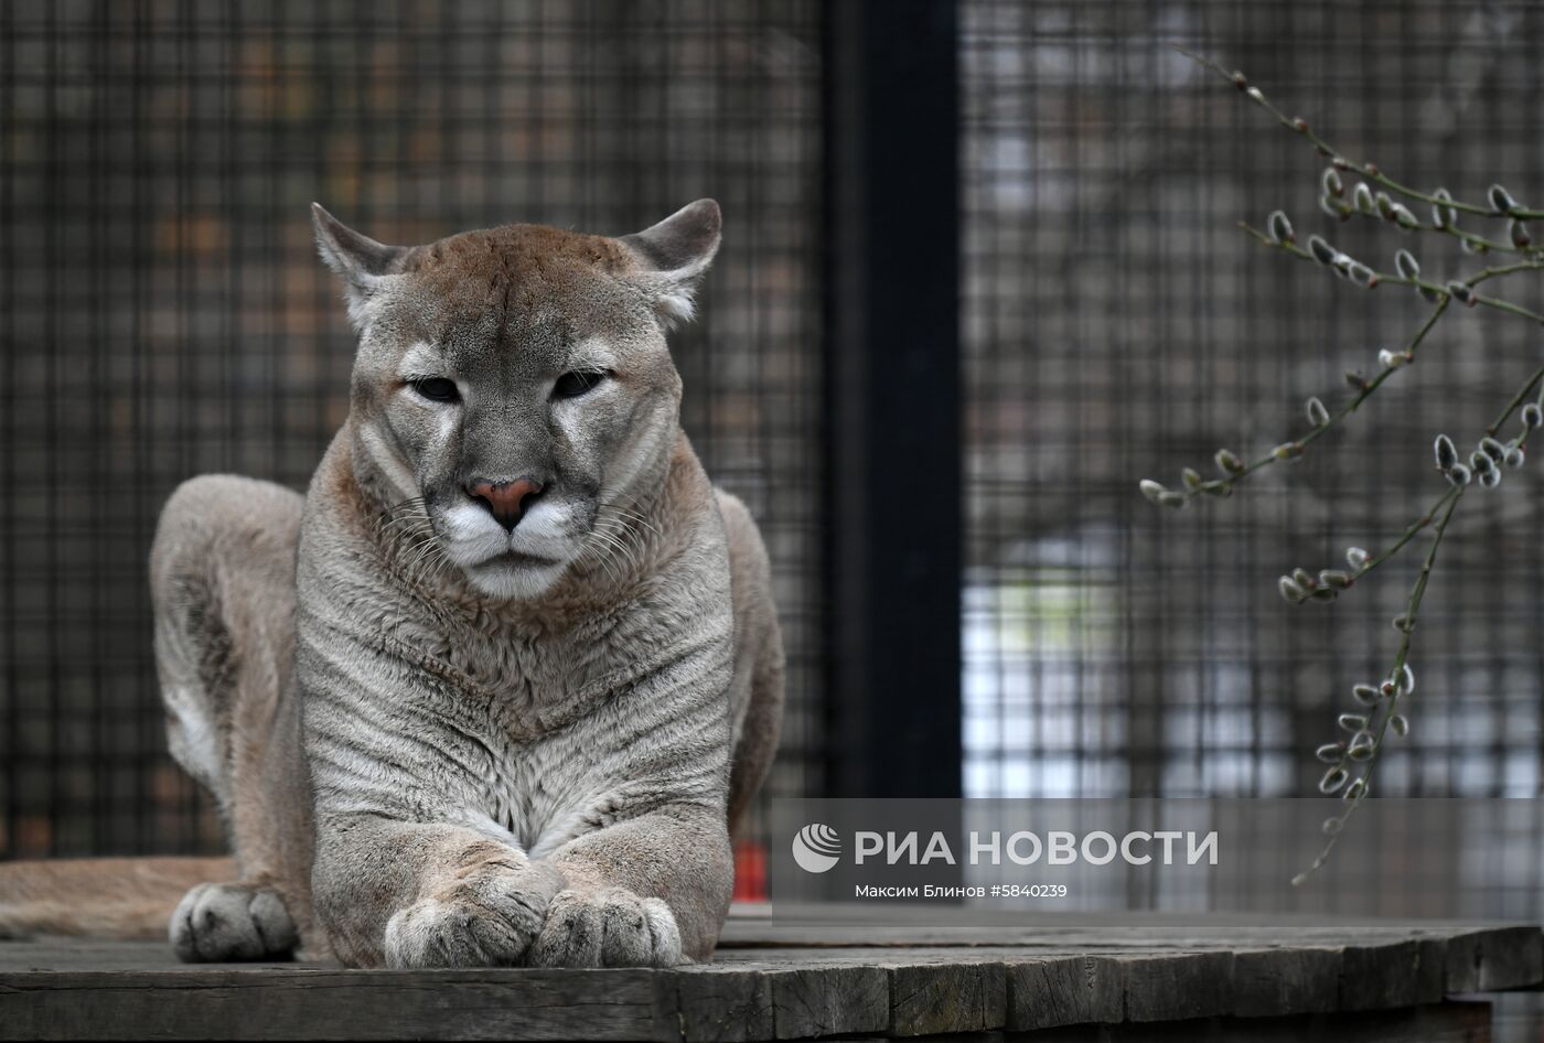
[[[178,481],[303,488],[343,420],[312,199],[394,242],[723,204],[686,426],[775,562],[769,790],[818,785],[818,88],[812,0],[0,5],[0,855],[219,846],[145,557]]]

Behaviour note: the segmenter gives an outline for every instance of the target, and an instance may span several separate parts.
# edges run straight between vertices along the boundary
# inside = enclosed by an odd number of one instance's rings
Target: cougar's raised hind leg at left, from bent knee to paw
[[[171,916],[182,960],[272,960],[310,933],[300,759],[295,552],[303,498],[213,475],[162,509],[150,557],[156,667],[171,754],[215,796],[241,869]]]

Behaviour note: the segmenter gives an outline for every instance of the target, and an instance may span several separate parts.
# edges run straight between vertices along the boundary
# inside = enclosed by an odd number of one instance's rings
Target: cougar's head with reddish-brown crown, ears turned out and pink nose
[[[395,509],[422,505],[483,594],[542,594],[664,481],[681,404],[665,332],[692,315],[718,204],[619,239],[506,225],[422,247],[313,218],[360,336],[355,471]]]

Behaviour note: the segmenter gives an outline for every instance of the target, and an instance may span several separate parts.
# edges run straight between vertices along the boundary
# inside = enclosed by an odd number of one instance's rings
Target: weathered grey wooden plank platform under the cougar
[[[1036,1040],[1124,1024],[1055,1038],[1136,1040],[1184,1023],[1161,1038],[1297,1038],[1362,1011],[1325,1038],[1488,1038],[1485,1004],[1444,1000],[1539,986],[1541,941],[1504,923],[885,906],[741,912],[713,963],[675,970],[190,966],[162,944],[37,940],[0,943],[0,1037]]]

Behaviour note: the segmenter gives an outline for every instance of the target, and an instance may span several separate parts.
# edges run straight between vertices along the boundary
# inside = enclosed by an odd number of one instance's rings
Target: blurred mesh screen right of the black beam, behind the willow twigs
[[[1433,435],[1473,446],[1538,366],[1533,326],[1456,309],[1302,461],[1229,500],[1149,505],[1139,478],[1177,486],[1220,446],[1302,435],[1308,395],[1343,401],[1343,370],[1376,372],[1430,310],[1271,251],[1240,219],[1283,207],[1299,241],[1325,233],[1383,270],[1399,247],[1442,279],[1485,264],[1322,214],[1323,160],[1175,43],[1405,184],[1544,201],[1535,5],[965,5],[970,795],[1312,793],[1311,751],[1353,682],[1390,670],[1424,552],[1332,606],[1288,606],[1277,576],[1393,542],[1442,492]],[[1536,276],[1504,296],[1538,309]],[[1541,491],[1530,461],[1461,505],[1382,793],[1536,795]]]

